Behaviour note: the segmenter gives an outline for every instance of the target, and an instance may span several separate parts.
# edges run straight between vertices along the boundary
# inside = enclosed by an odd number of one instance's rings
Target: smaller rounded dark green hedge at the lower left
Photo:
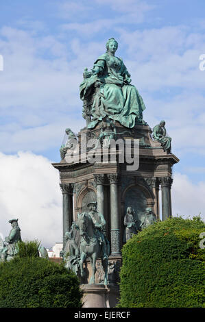
[[[0,308],[81,308],[82,291],[62,264],[34,256],[0,265]]]

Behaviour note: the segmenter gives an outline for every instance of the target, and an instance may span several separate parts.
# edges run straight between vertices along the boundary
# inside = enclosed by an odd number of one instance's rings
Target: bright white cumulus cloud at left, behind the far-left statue
[[[62,241],[62,195],[58,171],[43,156],[31,152],[0,153],[0,232],[10,232],[19,218],[23,240],[38,239],[45,247]]]

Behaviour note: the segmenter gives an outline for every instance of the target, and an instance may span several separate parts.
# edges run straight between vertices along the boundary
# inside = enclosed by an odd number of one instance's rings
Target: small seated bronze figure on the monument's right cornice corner
[[[154,140],[161,143],[164,151],[170,153],[171,151],[171,138],[167,136],[167,131],[165,129],[165,121],[160,121],[158,125],[156,125],[152,132],[152,137]]]

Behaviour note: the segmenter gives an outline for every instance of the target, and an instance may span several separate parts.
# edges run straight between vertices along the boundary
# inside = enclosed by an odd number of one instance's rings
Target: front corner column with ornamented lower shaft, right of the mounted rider
[[[110,180],[110,233],[111,255],[120,254],[120,224],[119,224],[119,200],[118,200],[118,175],[108,175]]]

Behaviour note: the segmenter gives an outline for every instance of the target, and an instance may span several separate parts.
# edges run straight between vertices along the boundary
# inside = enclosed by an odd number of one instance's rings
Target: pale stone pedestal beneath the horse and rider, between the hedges
[[[82,284],[83,308],[114,308],[118,303],[119,289],[104,284]]]

